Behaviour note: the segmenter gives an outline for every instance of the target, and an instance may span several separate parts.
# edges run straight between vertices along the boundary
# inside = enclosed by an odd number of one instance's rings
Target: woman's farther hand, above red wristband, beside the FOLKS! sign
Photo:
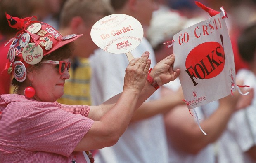
[[[159,86],[175,80],[180,75],[180,69],[177,69],[177,71],[173,70],[174,59],[174,54],[167,56],[162,61],[157,63],[150,73]]]

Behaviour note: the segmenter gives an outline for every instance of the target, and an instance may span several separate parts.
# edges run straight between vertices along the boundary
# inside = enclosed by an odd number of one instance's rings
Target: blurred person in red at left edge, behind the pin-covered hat
[[[16,29],[11,29],[9,27],[5,12],[16,17],[27,17],[31,14],[31,9],[33,7],[30,4],[26,4],[25,2],[25,0],[0,0],[0,95],[9,93],[11,91],[11,77],[8,73],[5,73],[7,72],[7,70],[5,70],[5,65],[9,62],[9,59],[7,59],[7,54],[10,44],[12,44],[12,41],[9,42],[9,40],[15,37],[17,32]],[[5,44],[7,45],[5,46]]]

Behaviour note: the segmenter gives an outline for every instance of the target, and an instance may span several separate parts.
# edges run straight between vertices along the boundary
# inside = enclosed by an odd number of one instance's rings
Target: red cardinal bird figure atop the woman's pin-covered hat
[[[24,19],[20,19],[18,17],[13,17],[13,16],[10,16],[9,14],[7,14],[5,12],[5,16],[6,16],[6,19],[9,23],[9,26],[12,27],[12,28],[16,28],[18,30],[21,30],[23,29],[25,26],[25,22],[28,21],[28,19],[30,17],[27,17],[27,18],[24,18]]]

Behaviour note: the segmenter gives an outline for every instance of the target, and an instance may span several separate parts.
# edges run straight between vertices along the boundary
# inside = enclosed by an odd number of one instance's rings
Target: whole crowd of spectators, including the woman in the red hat
[[[194,109],[207,135],[182,101],[175,54],[163,44],[209,18],[194,1],[0,0],[0,162],[256,162],[256,1],[199,2],[224,6],[237,83],[250,86],[249,95]],[[31,19],[14,29],[5,12]],[[90,36],[116,13],[144,30],[130,62]],[[39,27],[30,30],[33,23]]]

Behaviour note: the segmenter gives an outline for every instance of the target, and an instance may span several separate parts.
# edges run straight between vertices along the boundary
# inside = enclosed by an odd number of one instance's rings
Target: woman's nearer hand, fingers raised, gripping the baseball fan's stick
[[[151,63],[151,60],[148,58],[149,52],[146,51],[140,58],[130,61],[126,68],[123,89],[137,89],[142,91]]]

